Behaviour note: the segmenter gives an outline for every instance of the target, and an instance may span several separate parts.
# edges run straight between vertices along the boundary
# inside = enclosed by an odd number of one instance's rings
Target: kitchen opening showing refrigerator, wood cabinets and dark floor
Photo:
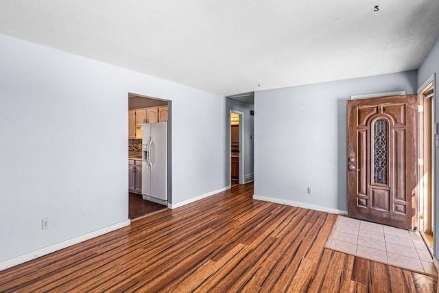
[[[167,209],[171,102],[128,93],[128,218]]]

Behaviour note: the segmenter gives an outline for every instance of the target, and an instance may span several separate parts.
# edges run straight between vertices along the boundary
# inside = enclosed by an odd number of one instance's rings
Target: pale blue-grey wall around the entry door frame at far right
[[[436,84],[434,85],[434,91],[435,91],[435,122],[438,122],[439,119],[439,102],[438,102],[438,91],[439,91],[439,40],[436,41],[436,44],[431,48],[429,51],[429,54],[425,57],[425,60],[422,62],[418,69],[418,87],[422,86],[423,83],[433,74],[436,73]],[[439,176],[437,175],[439,172],[439,154],[438,154],[438,148],[435,150],[435,174],[436,174],[436,181],[435,181],[435,215],[434,215],[434,255],[438,257],[439,255],[439,200],[438,200],[438,194],[439,194]]]

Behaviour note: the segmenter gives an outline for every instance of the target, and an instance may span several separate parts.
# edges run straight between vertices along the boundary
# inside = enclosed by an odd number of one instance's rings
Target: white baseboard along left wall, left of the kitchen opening
[[[54,253],[57,250],[61,250],[63,248],[78,244],[80,242],[86,241],[88,239],[104,235],[105,233],[115,231],[124,226],[130,225],[130,219],[125,220],[123,222],[119,222],[113,224],[111,226],[106,226],[104,228],[100,228],[99,230],[92,231],[90,233],[86,233],[84,235],[80,235],[78,237],[74,237],[71,239],[64,240],[62,242],[58,242],[56,244],[52,244],[34,251],[30,253],[25,253],[24,255],[19,255],[18,257],[13,257],[12,259],[6,259],[5,261],[0,261],[0,271],[5,270],[7,268],[11,268],[12,266],[19,265],[20,263],[24,263],[26,261],[30,261],[32,259],[36,259],[38,257],[42,257],[43,255],[48,255],[49,253]]]

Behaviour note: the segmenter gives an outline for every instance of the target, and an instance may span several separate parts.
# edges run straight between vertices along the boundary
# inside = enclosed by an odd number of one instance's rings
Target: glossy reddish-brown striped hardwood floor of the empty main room
[[[252,194],[236,185],[4,270],[0,292],[436,290],[434,278],[324,248],[336,215]]]

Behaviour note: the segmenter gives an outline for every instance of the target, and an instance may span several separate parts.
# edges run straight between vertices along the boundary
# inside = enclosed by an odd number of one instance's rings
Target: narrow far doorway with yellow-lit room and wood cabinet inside
[[[230,110],[230,185],[244,184],[244,113]]]

